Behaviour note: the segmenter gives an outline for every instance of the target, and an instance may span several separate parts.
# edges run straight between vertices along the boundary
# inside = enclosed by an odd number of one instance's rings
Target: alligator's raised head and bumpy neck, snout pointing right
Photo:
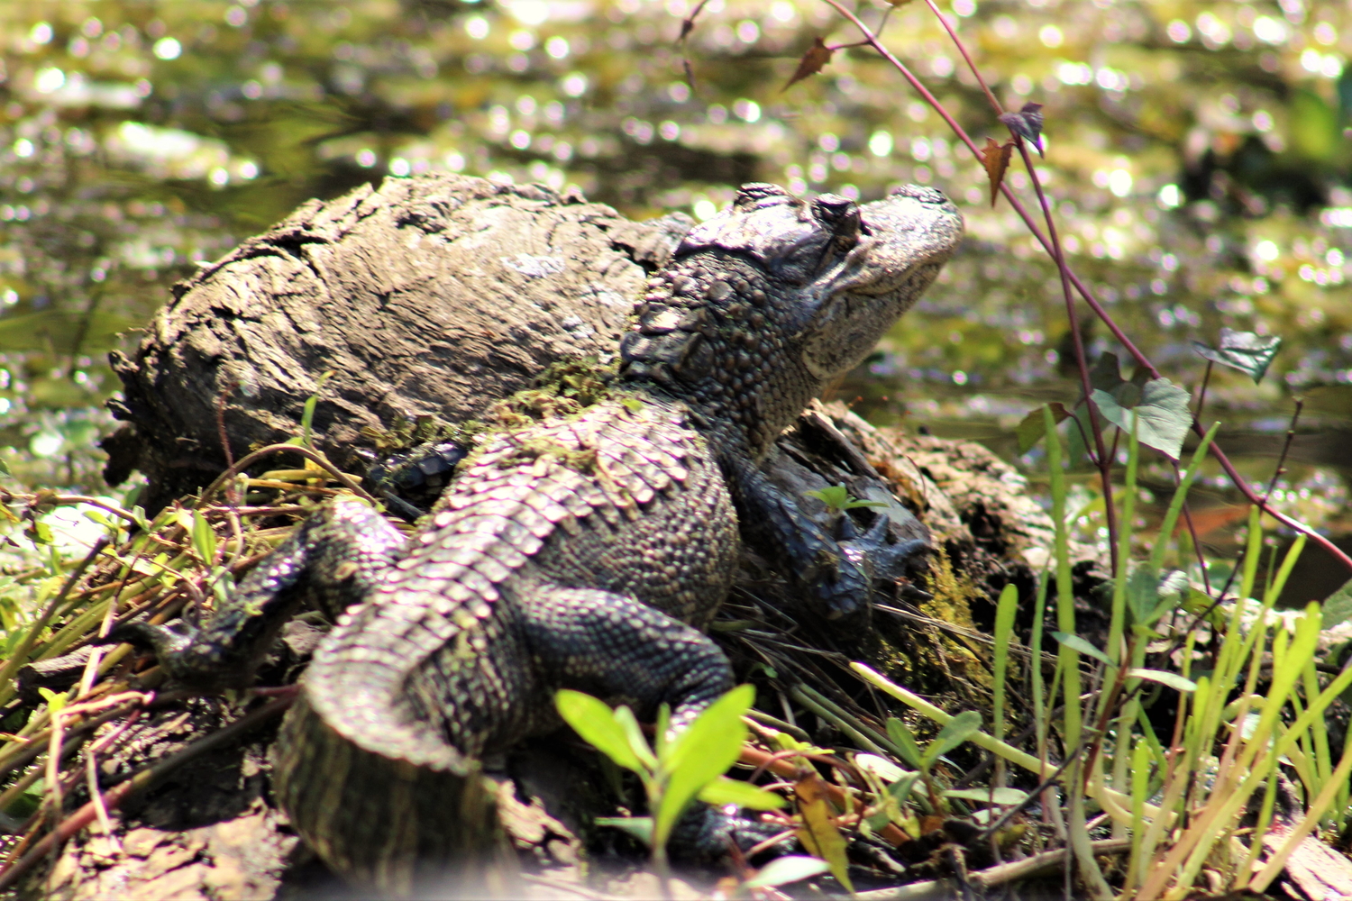
[[[623,373],[760,455],[863,362],[961,236],[957,208],[932,188],[859,205],[745,185],[649,284],[621,346]]]

